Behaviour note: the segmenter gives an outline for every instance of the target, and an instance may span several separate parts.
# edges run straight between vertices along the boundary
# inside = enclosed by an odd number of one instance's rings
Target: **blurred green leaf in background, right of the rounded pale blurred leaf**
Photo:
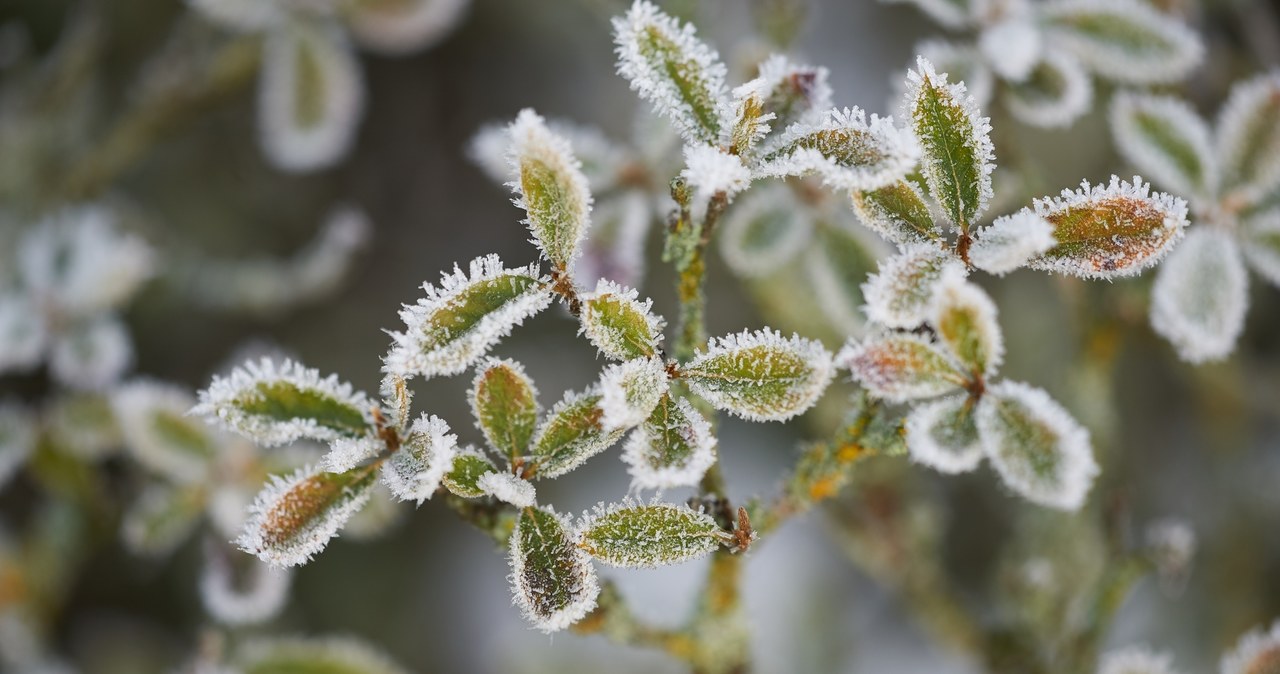
[[[863,281],[884,244],[869,234],[841,225],[818,228],[818,235],[803,257],[805,276],[822,317],[844,335],[861,334],[865,320]]]

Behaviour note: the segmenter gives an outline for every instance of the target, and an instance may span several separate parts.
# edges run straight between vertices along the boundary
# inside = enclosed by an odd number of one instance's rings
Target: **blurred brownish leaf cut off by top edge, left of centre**
[[[470,0],[349,0],[347,27],[362,47],[401,55],[444,37]]]

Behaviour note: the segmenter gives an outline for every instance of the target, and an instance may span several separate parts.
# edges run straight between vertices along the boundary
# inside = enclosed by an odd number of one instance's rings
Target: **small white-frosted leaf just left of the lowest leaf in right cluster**
[[[982,460],[974,403],[966,394],[916,405],[905,428],[906,449],[918,463],[943,473],[963,473]]]

